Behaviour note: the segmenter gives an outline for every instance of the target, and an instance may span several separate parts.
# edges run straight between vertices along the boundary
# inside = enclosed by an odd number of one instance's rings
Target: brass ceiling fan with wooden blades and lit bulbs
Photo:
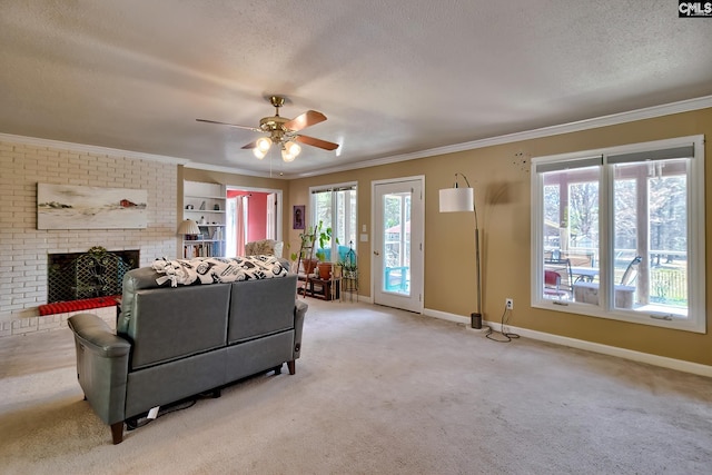
[[[279,116],[279,108],[285,105],[284,97],[270,96],[269,102],[275,107],[275,115],[271,117],[263,117],[259,120],[259,127],[238,126],[235,123],[218,122],[216,120],[208,119],[196,120],[199,122],[218,123],[221,126],[237,127],[238,129],[268,133],[268,136],[260,137],[243,147],[244,149],[253,149],[255,157],[260,160],[265,158],[273,144],[279,145],[281,149],[281,159],[287,162],[293,161],[301,151],[299,144],[322,148],[324,150],[336,150],[338,148],[338,144],[297,133],[301,129],[306,129],[309,126],[325,121],[326,116],[322,112],[307,110],[294,119],[287,119]]]

